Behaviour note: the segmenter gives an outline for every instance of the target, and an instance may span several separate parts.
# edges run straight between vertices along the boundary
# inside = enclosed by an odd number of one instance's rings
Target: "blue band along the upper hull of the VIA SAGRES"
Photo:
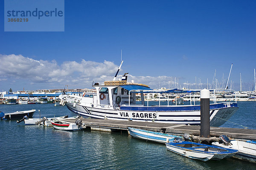
[[[210,104],[210,109],[220,109],[226,108],[226,103],[217,103],[217,104]],[[230,107],[237,107],[237,103],[230,103]],[[200,105],[195,106],[178,106],[178,107],[159,107],[159,106],[149,106],[149,107],[136,107],[136,106],[121,106],[121,110],[132,110],[132,111],[195,111],[200,110]]]

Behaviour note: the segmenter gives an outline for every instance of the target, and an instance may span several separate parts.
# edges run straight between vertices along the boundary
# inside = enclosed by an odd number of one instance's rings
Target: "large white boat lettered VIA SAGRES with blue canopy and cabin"
[[[96,88],[96,93],[84,93],[83,96],[68,95],[65,98],[59,98],[63,100],[70,111],[90,118],[200,124],[200,105],[195,105],[195,102],[192,104],[192,96],[200,91],[182,91],[179,89],[153,91],[145,84],[128,82],[127,74],[125,73],[120,81],[116,81],[115,76],[113,81],[105,81],[104,84],[95,83],[93,87]],[[189,93],[190,104],[169,105],[168,100],[167,105],[160,105],[159,102],[159,105],[150,106],[148,100],[147,102],[144,101],[144,94],[152,92],[159,94]],[[136,93],[141,96],[141,104],[136,102]],[[217,103],[214,101],[214,104],[210,104],[210,126],[221,126],[237,109],[236,102]]]

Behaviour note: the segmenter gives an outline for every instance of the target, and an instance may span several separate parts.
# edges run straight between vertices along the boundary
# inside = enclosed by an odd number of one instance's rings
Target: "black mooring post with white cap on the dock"
[[[200,91],[201,98],[201,129],[200,135],[203,138],[210,137],[210,91],[203,89]]]

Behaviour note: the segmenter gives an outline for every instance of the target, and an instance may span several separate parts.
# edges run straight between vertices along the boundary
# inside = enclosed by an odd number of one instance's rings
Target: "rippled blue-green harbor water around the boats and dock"
[[[156,102],[155,104],[157,104]],[[256,102],[238,102],[239,109],[222,127],[256,129]],[[36,109],[33,118],[74,116],[66,106],[54,104],[0,105],[0,111]],[[242,127],[243,125],[244,127]],[[197,161],[179,156],[158,144],[131,138],[127,132],[62,131],[0,120],[0,170],[255,170],[256,164],[235,158]]]

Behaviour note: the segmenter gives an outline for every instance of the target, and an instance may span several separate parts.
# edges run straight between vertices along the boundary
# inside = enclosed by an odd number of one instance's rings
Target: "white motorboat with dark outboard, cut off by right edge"
[[[256,141],[229,140],[227,136],[220,136],[222,143],[212,142],[212,145],[238,150],[234,158],[256,163]]]

